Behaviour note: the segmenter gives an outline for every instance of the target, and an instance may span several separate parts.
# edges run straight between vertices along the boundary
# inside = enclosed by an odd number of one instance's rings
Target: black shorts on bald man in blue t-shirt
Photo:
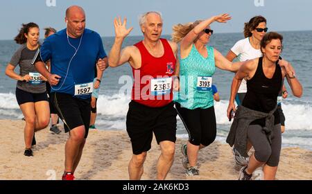
[[[65,132],[84,125],[85,138],[87,138],[90,124],[91,98],[85,100],[58,92],[51,93],[51,98],[58,111],[58,116],[64,123]]]

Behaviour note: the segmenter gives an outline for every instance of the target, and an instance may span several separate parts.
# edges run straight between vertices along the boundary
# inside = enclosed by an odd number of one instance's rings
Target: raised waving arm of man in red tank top
[[[125,47],[123,51],[121,51],[121,46],[123,44],[123,39],[131,32],[133,28],[129,28],[128,30],[125,28],[125,24],[127,23],[127,19],[123,19],[123,24],[121,24],[121,18],[114,19],[114,28],[115,28],[115,41],[110,50],[108,64],[110,67],[118,67],[125,62],[130,60],[130,48],[129,46]]]

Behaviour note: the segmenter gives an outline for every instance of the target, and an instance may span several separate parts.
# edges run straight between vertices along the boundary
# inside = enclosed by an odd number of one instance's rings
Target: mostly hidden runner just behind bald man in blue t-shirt
[[[56,30],[54,28],[44,28],[45,33],[44,33],[44,38],[47,38],[54,33],[56,33]],[[49,72],[51,72],[51,65],[50,65],[50,60],[46,62],[46,66],[48,67]],[[51,86],[49,82],[46,82],[46,92],[48,93],[48,98],[49,98],[49,105],[50,105],[50,116],[51,116],[51,127],[50,131],[53,134],[59,134],[61,130],[58,128],[58,112],[56,111],[56,108],[54,106],[53,100],[50,97],[51,96]]]

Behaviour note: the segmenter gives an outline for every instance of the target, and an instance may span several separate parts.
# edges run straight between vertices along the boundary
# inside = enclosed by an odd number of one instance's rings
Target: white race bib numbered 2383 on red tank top
[[[159,96],[170,94],[172,88],[172,78],[159,78],[150,80],[150,94]]]

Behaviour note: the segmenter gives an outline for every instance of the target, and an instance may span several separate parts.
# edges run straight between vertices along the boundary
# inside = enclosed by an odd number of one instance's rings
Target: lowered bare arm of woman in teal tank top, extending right
[[[241,67],[243,62],[230,62],[227,60],[218,50],[214,48],[214,59],[216,61],[216,67],[219,69],[236,72]]]

